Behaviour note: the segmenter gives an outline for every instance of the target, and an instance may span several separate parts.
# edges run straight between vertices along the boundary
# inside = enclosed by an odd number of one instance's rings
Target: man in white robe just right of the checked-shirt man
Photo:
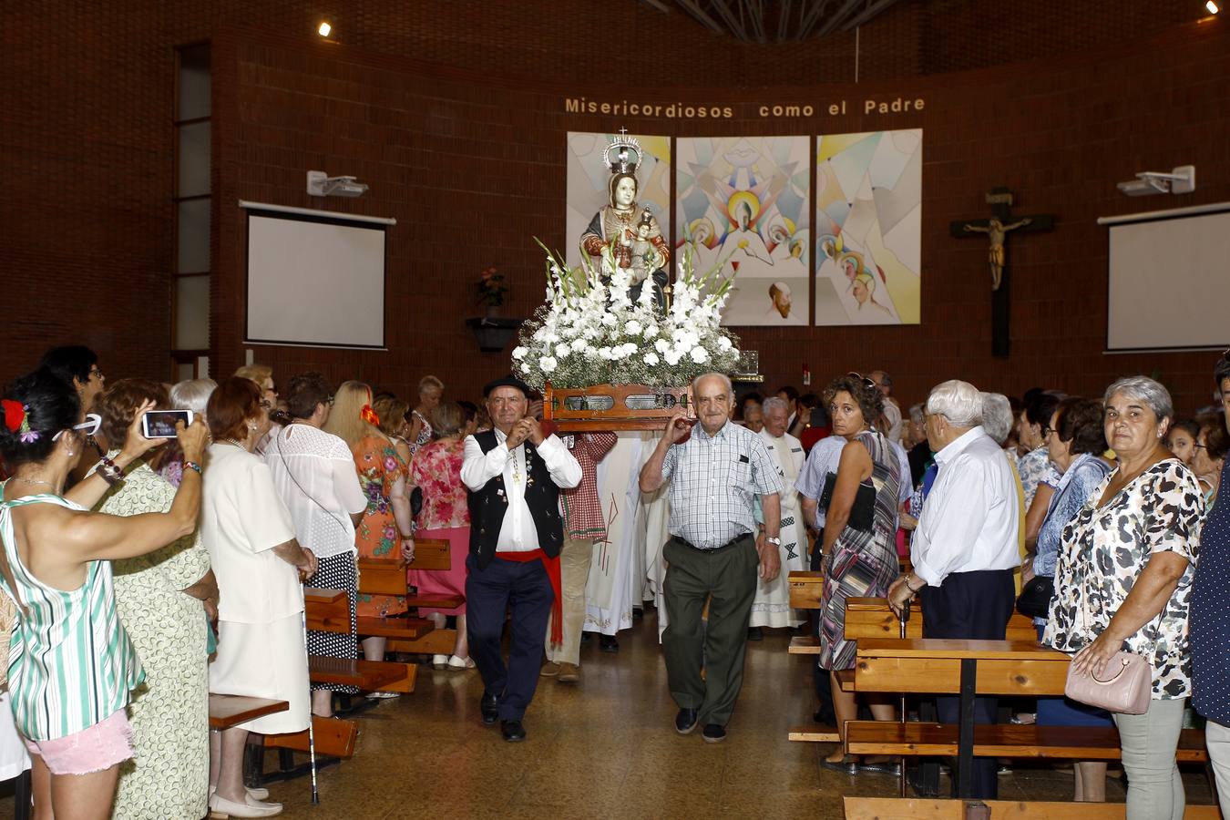
[[[803,445],[786,432],[790,407],[781,398],[766,398],[763,406],[765,427],[759,435],[764,439],[769,456],[777,465],[782,477],[781,491],[781,572],[772,580],[759,580],[756,596],[752,602],[748,627],[796,627],[803,622],[800,612],[790,606],[790,573],[807,569],[807,529],[798,505],[795,482],[803,471]],[[755,637],[753,632],[753,637]]]

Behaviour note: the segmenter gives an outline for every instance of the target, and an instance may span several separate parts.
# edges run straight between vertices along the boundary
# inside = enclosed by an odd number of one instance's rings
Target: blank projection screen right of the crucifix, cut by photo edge
[[[1226,210],[1111,224],[1108,350],[1230,345]]]

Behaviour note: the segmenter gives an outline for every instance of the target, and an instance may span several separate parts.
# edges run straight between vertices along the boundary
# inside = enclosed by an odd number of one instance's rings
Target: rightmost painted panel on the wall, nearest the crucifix
[[[921,320],[922,129],[815,143],[815,323]]]

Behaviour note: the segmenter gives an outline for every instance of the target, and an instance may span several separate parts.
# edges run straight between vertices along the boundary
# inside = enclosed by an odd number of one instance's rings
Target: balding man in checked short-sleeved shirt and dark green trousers
[[[697,418],[675,411],[641,467],[640,486],[652,493],[670,482],[662,654],[679,706],[675,731],[689,734],[702,723],[706,743],[721,743],[743,686],[756,578],[772,580],[781,569],[781,477],[764,440],[731,422],[734,390],[727,376],[699,376],[692,398]],[[764,510],[759,537],[753,495]]]

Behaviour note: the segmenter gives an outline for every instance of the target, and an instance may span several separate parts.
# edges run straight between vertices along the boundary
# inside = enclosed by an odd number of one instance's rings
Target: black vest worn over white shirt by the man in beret
[[[478,443],[485,454],[498,444],[494,430],[476,433],[474,440]],[[534,519],[534,529],[538,530],[538,546],[554,558],[560,554],[560,547],[563,545],[560,488],[551,481],[551,471],[542,463],[534,445],[526,440],[524,446],[525,472],[529,476],[529,486],[525,488],[525,505],[530,508],[530,518]],[[483,484],[482,489],[470,491],[467,505],[470,508],[470,554],[475,557],[478,569],[482,569],[496,557],[496,541],[499,538],[499,530],[504,525],[504,514],[508,511],[503,473]]]

